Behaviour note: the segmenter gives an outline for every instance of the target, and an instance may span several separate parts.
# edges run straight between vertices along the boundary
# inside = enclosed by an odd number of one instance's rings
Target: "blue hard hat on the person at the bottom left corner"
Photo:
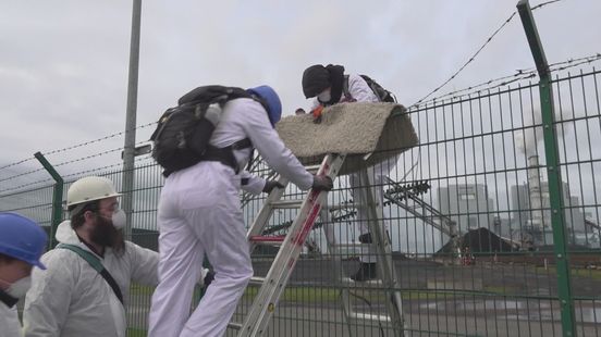
[[[39,258],[46,249],[46,232],[15,213],[0,213],[0,253],[45,270]]]

